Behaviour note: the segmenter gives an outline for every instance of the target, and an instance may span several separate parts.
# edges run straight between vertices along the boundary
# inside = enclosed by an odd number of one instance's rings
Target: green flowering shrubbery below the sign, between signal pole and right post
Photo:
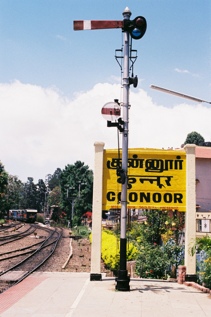
[[[136,256],[136,272],[140,274],[143,263],[142,277],[161,278],[165,271],[171,274],[171,266],[176,268],[183,261],[183,246],[179,245],[184,225],[184,213],[169,216],[168,210],[145,209],[142,216],[145,222],[132,223],[127,235],[139,252]],[[173,227],[173,230],[170,229]],[[161,240],[165,237],[162,247]]]

